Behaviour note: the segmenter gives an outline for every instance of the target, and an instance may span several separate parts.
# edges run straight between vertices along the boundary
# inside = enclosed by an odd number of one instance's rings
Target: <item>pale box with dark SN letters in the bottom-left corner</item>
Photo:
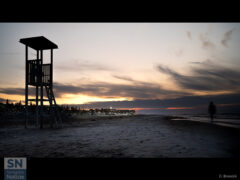
[[[26,169],[26,158],[4,158],[4,169]]]

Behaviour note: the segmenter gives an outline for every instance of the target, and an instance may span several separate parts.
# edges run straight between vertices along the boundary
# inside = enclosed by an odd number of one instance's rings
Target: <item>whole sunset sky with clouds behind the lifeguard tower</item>
[[[239,23],[0,23],[0,100],[24,102],[19,40],[34,36],[59,47],[58,104],[163,112],[196,111],[213,100],[239,108]]]

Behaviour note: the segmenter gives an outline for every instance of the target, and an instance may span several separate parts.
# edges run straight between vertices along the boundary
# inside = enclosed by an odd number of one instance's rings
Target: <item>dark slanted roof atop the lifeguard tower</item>
[[[25,44],[35,50],[46,50],[46,49],[57,49],[58,46],[53,42],[49,41],[44,36],[23,38],[20,39],[20,43]]]

